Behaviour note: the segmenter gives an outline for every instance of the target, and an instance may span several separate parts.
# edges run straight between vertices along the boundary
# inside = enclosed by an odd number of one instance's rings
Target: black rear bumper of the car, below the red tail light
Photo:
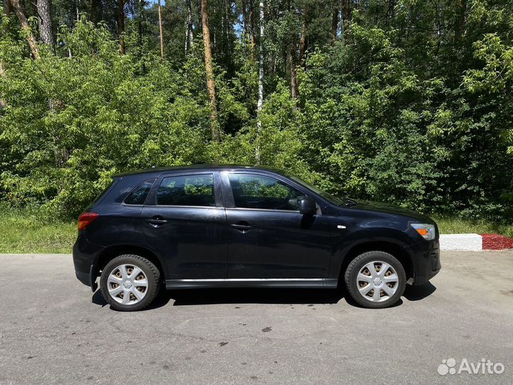
[[[96,278],[98,277],[98,268],[94,261],[102,252],[103,247],[89,242],[86,235],[82,232],[73,245],[73,265],[75,266],[75,275],[80,282],[89,286],[93,292],[98,289]]]

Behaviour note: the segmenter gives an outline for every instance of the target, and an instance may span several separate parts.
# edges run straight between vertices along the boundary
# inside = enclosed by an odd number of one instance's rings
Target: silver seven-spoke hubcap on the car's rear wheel
[[[110,297],[120,304],[137,304],[147,293],[147,277],[135,265],[119,265],[109,273],[107,287]]]

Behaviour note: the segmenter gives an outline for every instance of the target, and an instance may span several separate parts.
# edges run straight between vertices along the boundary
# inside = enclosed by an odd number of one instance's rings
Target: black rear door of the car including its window
[[[142,208],[147,242],[165,259],[168,279],[226,278],[227,222],[217,172],[158,178]]]

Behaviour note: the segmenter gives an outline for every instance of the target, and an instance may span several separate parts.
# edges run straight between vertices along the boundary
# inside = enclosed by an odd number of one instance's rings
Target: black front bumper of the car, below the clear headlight
[[[442,265],[438,240],[423,240],[410,246],[409,249],[413,260],[413,284],[425,284],[440,272]]]

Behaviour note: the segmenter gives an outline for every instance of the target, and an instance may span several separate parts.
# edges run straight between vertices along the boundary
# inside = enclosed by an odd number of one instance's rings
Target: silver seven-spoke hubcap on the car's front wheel
[[[369,262],[361,268],[356,279],[358,292],[371,302],[383,302],[395,294],[399,287],[397,272],[383,261]]]

